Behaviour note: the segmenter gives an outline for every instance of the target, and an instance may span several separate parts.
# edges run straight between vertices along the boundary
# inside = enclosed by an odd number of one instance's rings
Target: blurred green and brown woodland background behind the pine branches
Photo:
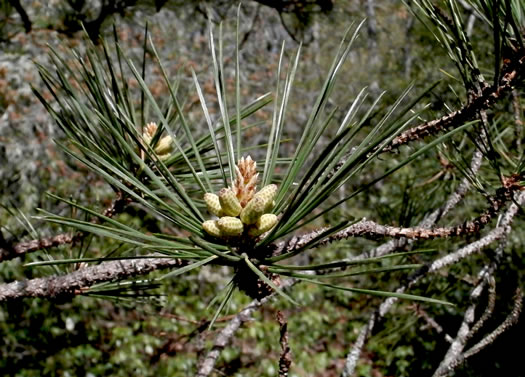
[[[372,5],[371,5],[372,4]],[[35,62],[49,65],[49,46],[58,51],[83,49],[83,24],[94,42],[98,35],[111,36],[112,25],[125,50],[137,59],[141,57],[144,28],[150,35],[166,64],[169,75],[181,77],[181,89],[191,85],[193,68],[200,77],[203,90],[214,91],[207,40],[208,19],[214,24],[225,21],[225,56],[233,59],[234,22],[237,1],[6,1],[0,11],[0,225],[8,241],[57,234],[60,229],[31,218],[36,208],[66,214],[70,208],[45,195],[46,192],[73,198],[83,204],[105,208],[113,196],[109,186],[80,164],[68,159],[55,146],[64,135],[50,120],[45,109],[31,92],[30,84],[46,93],[37,74]],[[267,91],[275,80],[281,42],[290,51],[303,41],[301,63],[297,72],[287,132],[297,138],[314,101],[324,74],[333,58],[345,30],[352,22],[367,18],[365,30],[356,41],[329,105],[346,108],[362,87],[368,86],[370,103],[381,92],[386,94],[373,123],[380,119],[406,87],[413,83],[414,93],[441,80],[431,95],[424,113],[426,119],[443,115],[449,104],[466,97],[453,63],[433,35],[408,9],[412,4],[396,1],[245,1],[241,8],[241,66],[243,95],[256,98]],[[491,32],[468,7],[462,8],[465,19],[472,23],[472,44],[478,52],[478,62],[490,81],[493,69]],[[151,52],[150,52],[151,53]],[[291,52],[290,52],[291,54]],[[157,97],[168,96],[158,68],[148,67],[149,86]],[[233,77],[230,75],[229,77]],[[130,86],[137,85],[130,82]],[[233,88],[234,82],[227,82]],[[523,87],[518,87],[522,93]],[[48,92],[49,94],[49,92]],[[518,96],[519,97],[519,96]],[[200,105],[195,94],[188,96],[184,110],[200,129]],[[369,103],[369,104],[370,104]],[[454,107],[454,106],[452,106]],[[217,104],[211,105],[217,112]],[[494,121],[509,122],[510,107],[496,108]],[[523,119],[523,112],[518,115]],[[264,143],[264,132],[258,132],[271,118],[264,108],[254,115],[250,143]],[[199,123],[201,122],[201,123]],[[504,128],[502,126],[502,128]],[[523,138],[521,129],[499,135],[499,142],[512,151],[519,151]],[[286,145],[284,149],[286,150]],[[256,153],[256,152],[254,152]],[[401,154],[406,152],[399,152]],[[340,207],[340,216],[367,217],[382,224],[413,226],[428,211],[438,208],[457,187],[461,169],[450,160],[460,161],[471,151],[461,143],[442,145],[395,176],[376,184],[366,195]],[[398,154],[384,156],[383,164],[393,166]],[[389,165],[390,164],[390,165]],[[363,182],[370,180],[362,174]],[[487,180],[497,180],[487,172]],[[359,187],[363,182],[351,182]],[[341,193],[343,195],[344,193]],[[469,194],[460,211],[447,217],[446,223],[458,224],[475,217],[484,208],[483,198]],[[337,213],[331,216],[337,217]],[[523,224],[520,213],[519,224]],[[162,220],[155,218],[140,205],[131,205],[119,215],[119,220],[148,232],[161,232]],[[330,218],[324,219],[327,223]],[[517,221],[517,220],[516,220]],[[516,229],[519,229],[518,225]],[[504,258],[504,270],[496,276],[498,301],[489,327],[495,327],[507,315],[516,282],[523,286],[523,245],[525,233],[512,233]],[[458,240],[418,241],[416,248],[452,250]],[[326,261],[359,254],[380,244],[379,241],[352,239],[323,249]],[[77,248],[88,249],[92,256],[104,250],[120,247],[112,240],[89,237]],[[72,255],[71,246],[52,251],[56,257]],[[24,264],[44,260],[47,252],[28,254],[0,264],[0,282],[30,279],[53,273],[52,267],[24,267]],[[472,285],[465,276],[474,276],[482,256],[474,257],[447,272],[426,277],[420,291],[414,293],[459,303],[456,307],[404,302],[395,307],[380,329],[370,339],[367,352],[360,360],[359,376],[426,376],[442,359],[448,343],[435,329],[422,320],[421,312],[430,313],[446,333],[455,334],[469,304]],[[59,271],[68,267],[56,267]],[[502,267],[503,268],[503,267]],[[399,273],[365,275],[356,284],[392,290],[405,275]],[[360,280],[361,279],[361,280]],[[97,297],[93,294],[72,301],[56,302],[43,299],[14,301],[0,306],[0,374],[16,376],[186,376],[193,375],[200,355],[211,344],[217,328],[227,321],[228,314],[238,312],[249,303],[242,293],[235,293],[225,317],[218,319],[210,332],[202,332],[214,308],[208,303],[228,282],[222,267],[204,267],[184,277],[160,286],[154,295],[135,290],[129,297]],[[293,352],[290,376],[336,376],[344,364],[349,345],[356,340],[379,298],[323,289],[299,284],[293,297],[302,303],[292,307],[283,300],[256,312],[254,321],[242,327],[233,343],[221,354],[216,376],[275,376],[279,359],[279,325],[277,309],[289,318],[288,330]],[[486,300],[486,298],[483,298]],[[502,335],[479,356],[473,357],[457,376],[525,375],[520,371],[522,322]]]

